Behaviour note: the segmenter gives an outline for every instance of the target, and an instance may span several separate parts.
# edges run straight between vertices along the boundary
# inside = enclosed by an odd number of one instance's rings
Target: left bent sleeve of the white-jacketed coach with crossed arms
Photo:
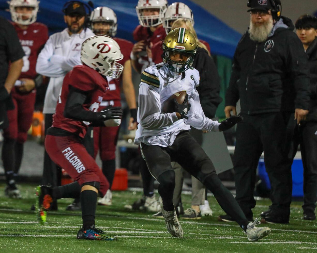
[[[40,52],[36,61],[36,73],[47,77],[60,77],[66,74],[60,65],[51,62],[51,57],[54,55],[54,41],[52,37],[46,41],[44,48]]]

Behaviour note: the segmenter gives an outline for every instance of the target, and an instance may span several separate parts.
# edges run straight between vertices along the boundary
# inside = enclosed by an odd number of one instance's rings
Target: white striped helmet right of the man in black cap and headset
[[[108,7],[97,7],[91,12],[90,15],[91,27],[95,34],[98,34],[98,30],[94,29],[94,22],[107,22],[110,23],[110,29],[108,31],[109,36],[114,37],[117,33],[117,15],[114,11]]]

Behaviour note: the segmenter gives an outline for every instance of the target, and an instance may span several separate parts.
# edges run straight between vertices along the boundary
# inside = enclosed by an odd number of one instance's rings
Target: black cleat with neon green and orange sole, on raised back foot
[[[53,202],[52,187],[44,185],[38,186],[36,188],[36,196],[36,216],[39,219],[40,224],[43,225],[46,222],[46,211],[49,210],[51,202]]]

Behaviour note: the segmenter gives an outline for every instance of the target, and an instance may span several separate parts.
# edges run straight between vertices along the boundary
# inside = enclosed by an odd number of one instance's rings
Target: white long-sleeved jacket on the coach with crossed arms
[[[44,114],[54,114],[65,75],[76,65],[81,65],[81,44],[94,33],[83,29],[69,36],[68,28],[49,37],[36,62],[36,72],[50,77],[44,100]]]

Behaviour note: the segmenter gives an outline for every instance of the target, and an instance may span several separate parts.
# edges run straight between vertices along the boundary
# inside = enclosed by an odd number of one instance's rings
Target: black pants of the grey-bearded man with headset
[[[237,124],[233,164],[236,200],[247,218],[253,213],[256,169],[264,151],[264,164],[271,183],[272,210],[289,216],[292,198],[294,113],[265,113],[243,116]]]

